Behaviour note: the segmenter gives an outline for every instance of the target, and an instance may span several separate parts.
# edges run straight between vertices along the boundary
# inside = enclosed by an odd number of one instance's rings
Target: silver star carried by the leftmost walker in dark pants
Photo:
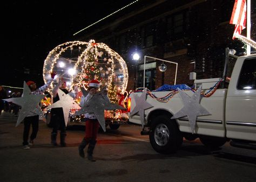
[[[28,116],[30,112],[39,115],[39,118],[45,121],[43,111],[39,106],[39,102],[41,102],[41,100],[44,98],[44,95],[33,95],[30,93],[31,91],[29,89],[29,86],[26,85],[26,82],[24,81],[22,97],[3,99],[4,101],[13,102],[22,107],[16,123],[16,127],[24,120],[26,116]]]

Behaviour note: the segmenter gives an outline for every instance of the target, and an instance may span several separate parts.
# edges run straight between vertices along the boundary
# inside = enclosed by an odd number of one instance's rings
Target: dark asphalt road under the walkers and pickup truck
[[[99,132],[97,161],[90,162],[78,155],[83,126],[67,130],[62,148],[50,145],[51,128],[40,122],[35,145],[24,150],[16,120],[0,116],[0,181],[256,181],[256,151],[228,143],[210,151],[199,140],[184,141],[176,153],[161,155],[139,126],[122,125]]]

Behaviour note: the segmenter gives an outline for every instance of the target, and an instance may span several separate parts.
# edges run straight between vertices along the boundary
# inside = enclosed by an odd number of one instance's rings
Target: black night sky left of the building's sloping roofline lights
[[[83,32],[78,36],[74,33],[131,2],[4,1],[0,85],[23,87],[25,79],[43,84],[44,60],[53,48],[78,40]],[[37,78],[24,77],[24,68]]]

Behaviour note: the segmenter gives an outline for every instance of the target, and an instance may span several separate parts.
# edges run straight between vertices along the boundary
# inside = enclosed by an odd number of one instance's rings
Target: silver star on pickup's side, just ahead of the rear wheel
[[[187,116],[188,121],[190,122],[191,132],[193,134],[194,129],[196,128],[197,116],[211,115],[211,113],[209,113],[200,104],[201,87],[199,87],[197,92],[195,92],[191,97],[188,96],[183,90],[180,90],[179,88],[178,90],[184,107],[181,108],[176,114],[174,114],[171,119]]]

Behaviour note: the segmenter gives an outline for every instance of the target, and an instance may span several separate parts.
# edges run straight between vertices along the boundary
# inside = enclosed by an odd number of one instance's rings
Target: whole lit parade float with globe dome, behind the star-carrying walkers
[[[66,89],[68,90],[73,90],[75,86],[78,86],[77,99],[70,100],[67,103],[79,104],[83,95],[82,88],[87,90],[90,80],[95,79],[100,82],[100,88],[108,88],[108,96],[111,103],[124,106],[123,103],[119,102],[127,87],[128,70],[126,62],[117,52],[104,43],[96,43],[95,40],[89,40],[89,42],[70,41],[58,45],[50,51],[45,59],[43,68],[45,82],[49,80],[49,74],[52,71],[57,73],[57,79],[53,80],[50,85],[48,90],[50,94],[60,78],[66,82]],[[51,108],[50,99],[43,100],[43,105],[45,108]],[[64,102],[58,105],[58,107],[65,108]],[[67,108],[68,112],[65,112],[66,125],[84,124],[83,114],[74,115],[80,108],[77,109],[77,106],[72,107],[71,105]],[[49,121],[50,110],[45,111],[45,113]],[[106,110],[104,115],[104,129],[107,125],[111,129],[118,129],[120,124],[126,122],[128,118],[125,111],[120,109]]]

